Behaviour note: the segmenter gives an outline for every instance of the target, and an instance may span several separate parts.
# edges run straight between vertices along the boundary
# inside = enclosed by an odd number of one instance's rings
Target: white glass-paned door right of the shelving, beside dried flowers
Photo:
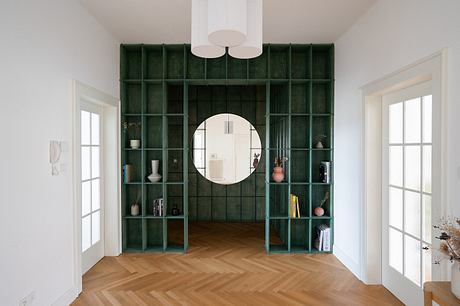
[[[382,105],[382,283],[418,306],[432,275],[430,83],[388,94]]]

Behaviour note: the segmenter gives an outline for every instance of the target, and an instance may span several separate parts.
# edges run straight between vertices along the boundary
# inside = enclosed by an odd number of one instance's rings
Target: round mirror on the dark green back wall
[[[203,121],[193,134],[192,159],[208,180],[222,185],[241,182],[257,168],[262,144],[246,119],[219,114]]]

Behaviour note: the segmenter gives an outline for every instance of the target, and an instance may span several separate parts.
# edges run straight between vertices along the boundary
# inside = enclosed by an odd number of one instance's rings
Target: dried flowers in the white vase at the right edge
[[[440,264],[442,259],[448,258],[450,261],[460,263],[460,219],[441,218],[441,224],[434,228],[441,231],[441,235],[436,237],[441,240],[439,251],[444,258],[435,260],[435,264]]]

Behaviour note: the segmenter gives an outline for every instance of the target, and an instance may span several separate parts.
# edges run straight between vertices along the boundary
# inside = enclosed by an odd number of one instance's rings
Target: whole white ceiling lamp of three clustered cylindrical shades
[[[262,0],[192,0],[192,53],[203,58],[262,54]]]

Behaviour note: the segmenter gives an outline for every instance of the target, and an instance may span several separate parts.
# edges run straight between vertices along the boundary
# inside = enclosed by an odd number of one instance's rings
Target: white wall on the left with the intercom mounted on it
[[[118,97],[118,42],[74,0],[0,2],[0,304],[51,305],[73,287],[71,79]],[[70,148],[69,148],[70,153]]]

